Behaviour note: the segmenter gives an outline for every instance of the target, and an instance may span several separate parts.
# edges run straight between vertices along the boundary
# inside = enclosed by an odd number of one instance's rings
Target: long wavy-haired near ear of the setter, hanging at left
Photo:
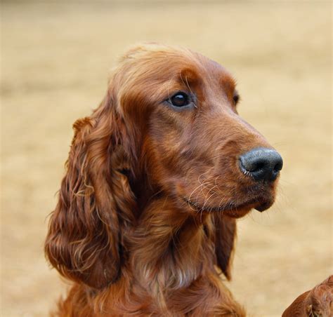
[[[109,95],[73,128],[45,253],[66,278],[103,288],[119,277],[126,252],[123,231],[131,226],[136,205],[123,173],[130,169],[122,144],[126,133]]]

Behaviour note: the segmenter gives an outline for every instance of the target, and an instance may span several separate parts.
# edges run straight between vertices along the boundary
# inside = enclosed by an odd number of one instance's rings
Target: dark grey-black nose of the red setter
[[[240,156],[240,169],[254,180],[276,180],[282,165],[282,157],[274,149],[259,147]]]

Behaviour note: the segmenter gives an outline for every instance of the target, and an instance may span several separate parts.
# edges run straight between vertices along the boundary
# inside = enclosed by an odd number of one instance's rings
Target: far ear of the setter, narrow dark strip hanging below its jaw
[[[218,267],[230,280],[233,249],[236,238],[236,220],[218,213],[213,215],[215,228],[215,253]]]

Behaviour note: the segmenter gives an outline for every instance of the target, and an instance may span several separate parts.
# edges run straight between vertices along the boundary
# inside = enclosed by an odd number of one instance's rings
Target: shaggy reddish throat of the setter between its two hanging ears
[[[208,214],[180,210],[167,197],[150,203],[131,239],[131,266],[143,288],[160,297],[214,269],[211,231]]]

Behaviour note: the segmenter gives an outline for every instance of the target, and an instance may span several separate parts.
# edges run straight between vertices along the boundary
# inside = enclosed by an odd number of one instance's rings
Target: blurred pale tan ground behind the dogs
[[[47,316],[65,293],[43,243],[72,123],[142,41],[229,69],[240,115],[284,158],[277,203],[238,221],[235,298],[280,316],[332,274],[331,28],[331,1],[3,1],[1,316]]]

